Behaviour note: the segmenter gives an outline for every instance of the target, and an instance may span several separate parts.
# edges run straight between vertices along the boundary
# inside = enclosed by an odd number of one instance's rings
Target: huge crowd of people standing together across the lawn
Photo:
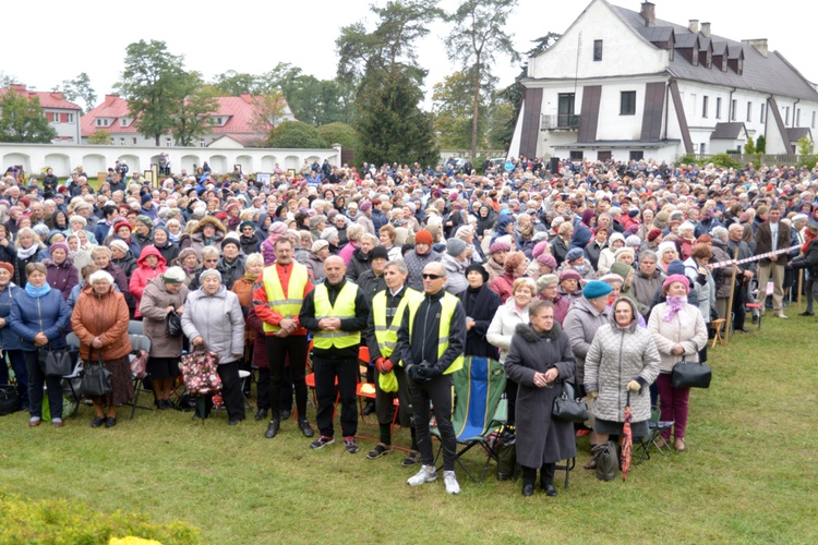
[[[112,377],[112,391],[92,400],[91,426],[112,427],[133,397],[128,325],[142,320],[157,410],[173,407],[183,352],[206,349],[219,354],[230,425],[246,416],[240,372],[257,370],[264,437],[294,411],[310,447],[324,448],[340,405],[344,448],[356,453],[359,356],[369,353],[375,399],[363,411],[380,435],[366,457],[394,452],[397,410],[411,437],[401,463],[420,464],[408,484],[435,481],[433,407],[445,488],[457,494],[453,374],[464,358],[496,359],[522,494],[533,494],[539,469],[554,496],[554,465],[576,456],[577,434],[593,447],[622,433],[627,393],[635,435],[647,435],[658,405],[674,422],[659,440],[686,449],[689,389],[673,387],[671,371],[707,361],[714,320],[748,331],[747,304],[759,303],[756,322],[768,295],[769,312],[785,319],[801,286],[802,315],[815,313],[818,169],[565,160],[552,172],[526,158],[484,168],[315,161],[262,184],[209,167],[171,174],[166,161],[157,185],[112,168],[99,187],[82,167],[64,182],[7,172],[0,384],[11,370],[32,427],[45,387],[62,427],[60,377],[45,374],[38,354],[73,331],[80,356]],[[171,315],[183,335],[169,334]],[[306,415],[310,362],[317,437]],[[593,400],[592,429],[552,420],[566,382]]]

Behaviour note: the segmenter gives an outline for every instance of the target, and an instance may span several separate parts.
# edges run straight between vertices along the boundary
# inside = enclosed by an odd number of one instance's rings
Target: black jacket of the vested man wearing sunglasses
[[[466,313],[462,310],[460,301],[455,306],[455,314],[452,316],[452,326],[449,328],[448,348],[443,355],[437,359],[437,338],[441,329],[441,299],[446,293],[441,289],[434,295],[425,294],[423,301],[414,313],[414,324],[412,326],[412,336],[409,337],[409,311],[404,314],[404,320],[398,329],[398,343],[395,351],[400,354],[404,367],[419,364],[423,361],[433,364],[433,367],[441,373],[445,372],[449,365],[459,355],[462,355],[466,348]]]

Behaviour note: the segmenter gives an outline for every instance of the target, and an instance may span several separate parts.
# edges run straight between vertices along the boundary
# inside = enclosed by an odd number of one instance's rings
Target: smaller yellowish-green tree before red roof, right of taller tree
[[[169,130],[177,146],[190,146],[209,132],[212,114],[218,111],[216,90],[205,85],[199,72],[183,72],[166,105]]]

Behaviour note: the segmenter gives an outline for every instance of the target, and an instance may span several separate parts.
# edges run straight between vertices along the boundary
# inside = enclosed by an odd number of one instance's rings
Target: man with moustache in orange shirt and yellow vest
[[[281,383],[286,358],[290,360],[292,386],[296,390],[298,427],[304,437],[315,435],[306,420],[306,329],[299,322],[304,298],[312,291],[306,267],[292,259],[292,242],[280,238],[274,246],[276,263],[264,268],[253,286],[253,310],[264,322],[264,334],[269,364],[269,399],[273,416],[264,436],[278,434],[281,425]],[[289,405],[287,407],[289,410]],[[266,411],[264,411],[266,413]],[[264,417],[264,416],[262,416]],[[261,419],[257,419],[261,420]]]

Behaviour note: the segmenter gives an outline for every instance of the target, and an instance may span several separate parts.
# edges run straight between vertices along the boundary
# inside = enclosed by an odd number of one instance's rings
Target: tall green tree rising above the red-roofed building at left
[[[117,86],[140,133],[157,146],[172,129],[171,105],[184,97],[183,74],[183,58],[171,55],[164,41],[140,40],[125,48],[125,69]]]

